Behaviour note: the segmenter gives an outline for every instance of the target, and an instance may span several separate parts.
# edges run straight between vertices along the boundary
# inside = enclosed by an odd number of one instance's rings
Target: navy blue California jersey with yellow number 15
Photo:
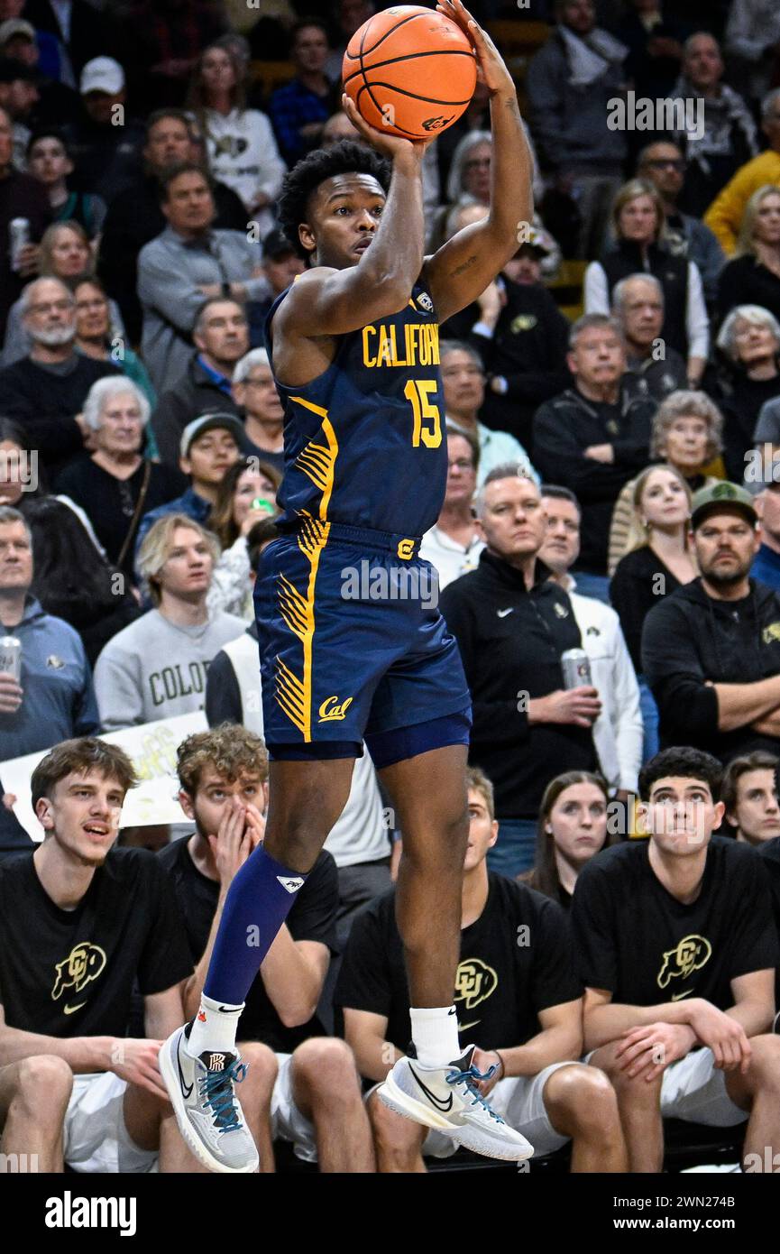
[[[266,321],[285,300],[273,302]],[[322,523],[423,535],[446,485],[439,324],[419,283],[390,317],[337,337],[336,356],[303,387],[276,387],[285,409],[285,524]]]

